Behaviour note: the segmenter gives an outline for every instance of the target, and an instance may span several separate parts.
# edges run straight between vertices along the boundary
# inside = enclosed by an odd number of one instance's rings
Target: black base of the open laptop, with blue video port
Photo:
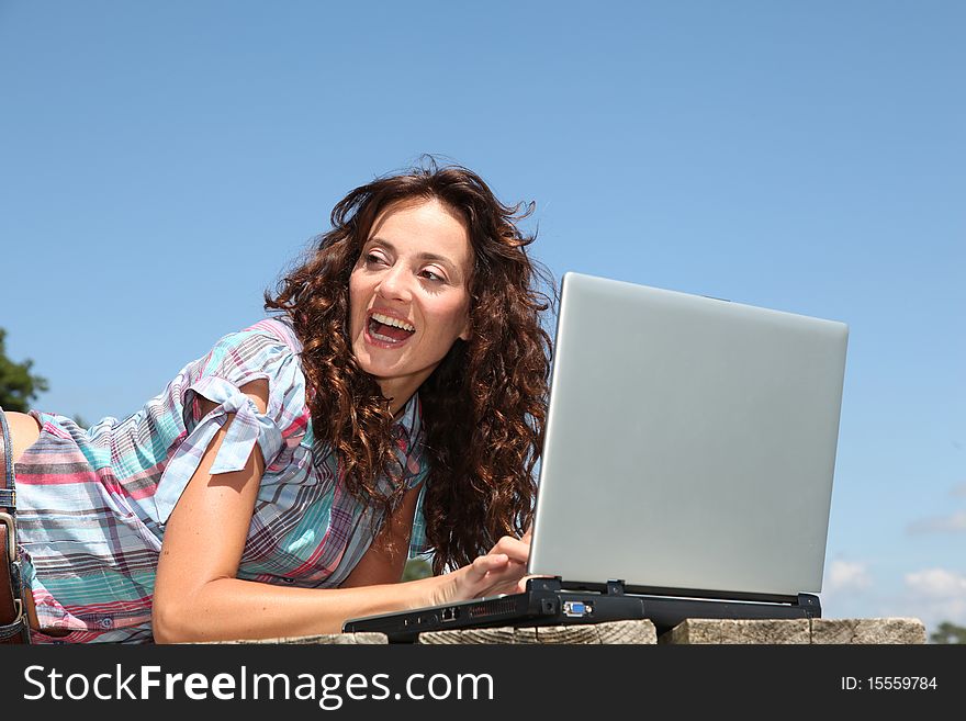
[[[342,631],[385,633],[390,643],[412,643],[428,631],[647,619],[660,635],[689,618],[821,618],[821,606],[810,594],[799,594],[787,604],[745,602],[627,594],[619,581],[608,582],[602,593],[594,593],[568,589],[560,578],[530,578],[527,590],[519,594],[350,619]]]

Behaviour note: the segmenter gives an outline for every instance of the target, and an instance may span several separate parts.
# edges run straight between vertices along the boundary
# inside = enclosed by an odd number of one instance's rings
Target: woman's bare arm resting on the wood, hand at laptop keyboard
[[[242,391],[265,413],[267,382]],[[394,583],[402,566],[386,551],[387,536],[374,540],[342,588],[289,588],[236,578],[265,461],[256,443],[242,471],[209,472],[231,423],[216,433],[168,520],[155,584],[158,643],[338,633],[349,618],[509,593],[520,583],[529,544],[509,537],[469,566],[407,583]],[[408,538],[415,502],[415,495],[407,495],[384,533]],[[395,540],[398,547],[398,536]]]

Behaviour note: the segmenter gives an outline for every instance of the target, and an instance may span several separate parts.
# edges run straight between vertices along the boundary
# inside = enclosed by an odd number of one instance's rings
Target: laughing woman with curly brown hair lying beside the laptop
[[[266,294],[279,317],[137,414],[8,413],[33,641],[335,633],[516,589],[550,351],[519,210],[461,167],[378,179]]]

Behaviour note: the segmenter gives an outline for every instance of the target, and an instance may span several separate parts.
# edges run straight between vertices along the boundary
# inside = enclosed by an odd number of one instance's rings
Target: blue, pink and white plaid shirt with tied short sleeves
[[[255,443],[266,460],[238,578],[310,588],[346,579],[372,540],[374,511],[338,483],[336,454],[314,442],[300,351],[288,324],[265,319],[222,338],[124,420],[83,429],[31,412],[42,430],[16,463],[18,541],[42,627],[70,631],[35,632],[35,643],[153,640],[165,525],[228,414],[212,473],[243,469]],[[269,384],[265,414],[238,390],[259,379]],[[217,407],[201,417],[199,396]],[[393,429],[415,487],[428,472],[417,396]],[[425,552],[423,491],[411,557]]]

